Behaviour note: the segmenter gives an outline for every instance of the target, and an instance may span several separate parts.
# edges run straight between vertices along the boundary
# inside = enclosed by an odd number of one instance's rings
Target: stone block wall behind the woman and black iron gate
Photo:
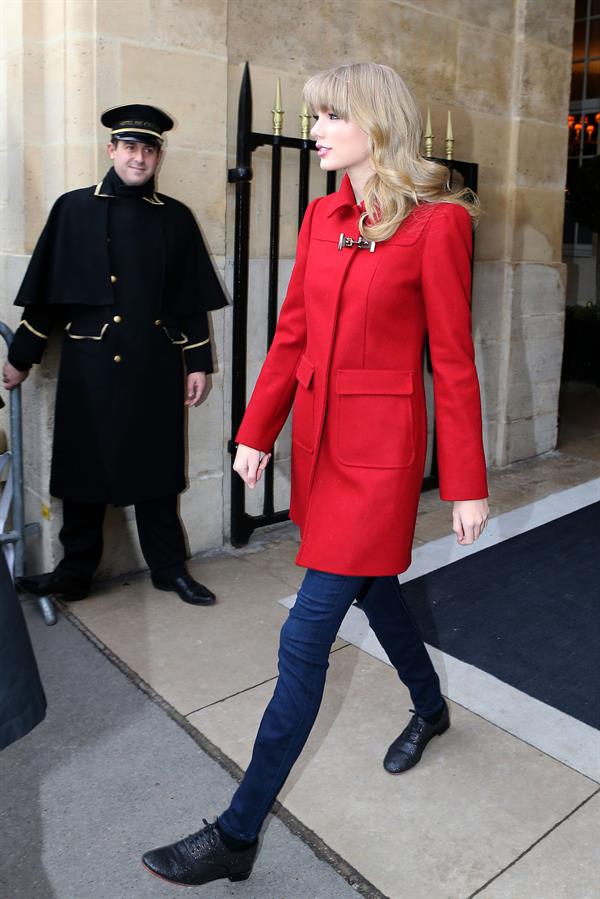
[[[297,133],[306,77],[365,59],[394,67],[423,114],[430,106],[440,154],[451,110],[456,158],[479,163],[483,215],[473,318],[488,461],[505,465],[553,449],[565,294],[572,0],[323,0],[318,7],[311,0],[229,0],[228,9],[230,154],[246,59],[256,130],[270,130],[278,76],[287,110],[284,130]],[[290,189],[293,183],[290,173]],[[264,203],[260,174],[254,190],[257,204]],[[261,221],[255,266],[266,253],[268,233],[259,212],[253,220],[257,230]],[[293,255],[293,228],[283,233],[289,240],[282,251]]]

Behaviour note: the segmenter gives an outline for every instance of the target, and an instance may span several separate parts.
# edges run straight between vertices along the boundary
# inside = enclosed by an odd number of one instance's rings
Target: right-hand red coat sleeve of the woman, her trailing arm
[[[425,238],[422,287],[443,500],[483,499],[488,493],[471,337],[472,243],[466,209],[440,203]]]

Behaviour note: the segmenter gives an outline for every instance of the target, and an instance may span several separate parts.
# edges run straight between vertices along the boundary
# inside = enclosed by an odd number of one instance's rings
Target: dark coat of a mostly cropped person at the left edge
[[[0,749],[28,734],[45,715],[23,610],[0,549]]]

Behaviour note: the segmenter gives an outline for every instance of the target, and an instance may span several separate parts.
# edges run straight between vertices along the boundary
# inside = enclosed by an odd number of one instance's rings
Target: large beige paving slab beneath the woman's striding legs
[[[245,767],[272,689],[190,721]],[[597,789],[455,704],[451,730],[394,778],[381,762],[409,705],[387,665],[354,647],[332,653],[317,725],[280,797],[392,899],[470,896]]]

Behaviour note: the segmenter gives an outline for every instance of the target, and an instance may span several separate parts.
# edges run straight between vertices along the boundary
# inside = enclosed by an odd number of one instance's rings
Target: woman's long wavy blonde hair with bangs
[[[451,190],[446,166],[421,155],[421,113],[389,66],[338,66],[313,75],[303,94],[313,112],[335,112],[367,134],[375,172],[365,186],[366,212],[359,222],[363,237],[386,240],[421,203],[456,203],[477,219],[477,196],[468,188]]]

